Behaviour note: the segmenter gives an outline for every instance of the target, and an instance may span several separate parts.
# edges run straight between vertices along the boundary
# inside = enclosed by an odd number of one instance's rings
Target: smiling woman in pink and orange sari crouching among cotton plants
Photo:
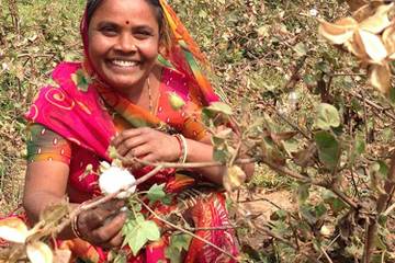
[[[201,107],[217,98],[195,67],[193,57],[202,58],[199,49],[165,1],[88,0],[81,34],[84,61],[60,64],[53,72],[57,87],[43,88],[27,114],[31,140],[24,207],[32,221],[65,195],[72,206],[100,195],[98,176],[86,171],[111,161],[110,145],[126,162],[135,157],[147,162],[213,160],[210,135],[199,119]],[[166,67],[158,62],[159,54],[167,59]],[[169,101],[174,94],[185,101],[180,111]],[[136,176],[151,170],[131,169]],[[228,225],[224,196],[206,186],[207,182],[221,185],[224,170],[201,168],[185,176],[168,169],[139,187],[165,183],[166,191],[179,197],[189,188],[199,190],[202,195],[185,208],[185,219],[199,228],[224,227]],[[250,165],[246,172],[251,174]],[[105,262],[105,251],[122,244],[123,205],[110,202],[79,215],[75,226],[60,235],[65,240],[60,248],[70,249],[80,260]],[[176,207],[174,199],[171,206],[155,209],[169,213]],[[238,253],[232,230],[196,235]],[[168,242],[163,236],[128,261],[166,261]],[[183,261],[232,262],[196,239]]]

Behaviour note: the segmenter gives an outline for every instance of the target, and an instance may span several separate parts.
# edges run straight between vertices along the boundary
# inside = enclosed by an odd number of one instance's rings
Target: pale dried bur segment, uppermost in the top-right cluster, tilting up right
[[[379,7],[374,15],[368,18],[360,24],[360,28],[373,34],[383,32],[391,25],[388,12],[392,8],[393,4],[384,4]]]

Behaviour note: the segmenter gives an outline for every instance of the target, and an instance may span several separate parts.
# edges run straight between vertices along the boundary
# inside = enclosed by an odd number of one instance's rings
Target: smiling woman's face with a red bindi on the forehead
[[[89,24],[89,57],[112,88],[143,88],[159,48],[159,24],[146,0],[104,0]]]

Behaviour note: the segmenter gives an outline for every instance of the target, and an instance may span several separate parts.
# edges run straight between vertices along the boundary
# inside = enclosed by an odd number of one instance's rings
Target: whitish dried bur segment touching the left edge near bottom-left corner
[[[19,218],[0,220],[0,238],[14,243],[24,243],[29,237],[26,225]]]

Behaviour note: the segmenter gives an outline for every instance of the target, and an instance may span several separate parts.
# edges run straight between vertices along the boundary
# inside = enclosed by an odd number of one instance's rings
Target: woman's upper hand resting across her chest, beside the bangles
[[[147,162],[172,162],[180,157],[178,139],[153,128],[126,129],[112,145],[126,160],[136,157]]]

